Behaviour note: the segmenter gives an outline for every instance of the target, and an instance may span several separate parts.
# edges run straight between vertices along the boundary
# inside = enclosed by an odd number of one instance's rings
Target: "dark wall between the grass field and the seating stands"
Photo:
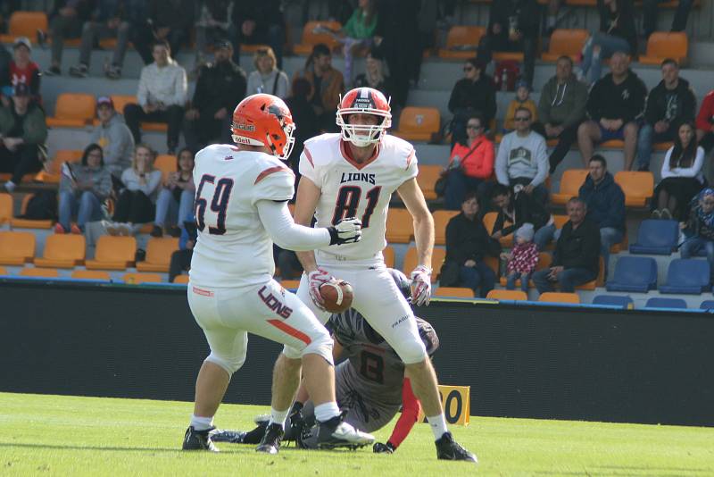
[[[0,391],[191,401],[208,353],[185,289],[0,280]],[[471,414],[714,426],[714,317],[436,302],[443,384]],[[267,405],[280,347],[251,337],[227,401]]]

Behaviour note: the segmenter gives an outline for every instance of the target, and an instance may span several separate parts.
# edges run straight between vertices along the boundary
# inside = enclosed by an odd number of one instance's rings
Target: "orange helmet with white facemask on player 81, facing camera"
[[[342,138],[355,146],[368,146],[379,142],[382,134],[392,126],[392,107],[389,100],[377,89],[354,88],[340,97],[337,107],[337,126]],[[377,124],[350,124],[350,114],[374,114],[381,120]]]

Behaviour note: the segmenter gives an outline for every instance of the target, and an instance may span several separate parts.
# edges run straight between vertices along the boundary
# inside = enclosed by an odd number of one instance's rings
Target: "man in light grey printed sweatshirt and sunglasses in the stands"
[[[496,155],[496,179],[511,188],[523,186],[541,204],[548,200],[544,187],[548,177],[548,155],[543,136],[530,129],[531,113],[518,108],[514,116],[516,130],[503,136]]]

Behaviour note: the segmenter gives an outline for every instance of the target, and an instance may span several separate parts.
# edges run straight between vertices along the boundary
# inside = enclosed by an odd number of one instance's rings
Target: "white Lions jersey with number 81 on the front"
[[[320,188],[316,227],[329,227],[346,217],[362,221],[360,242],[322,250],[351,259],[377,255],[386,247],[386,213],[394,190],[417,177],[417,157],[407,141],[384,135],[368,161],[354,163],[340,134],[305,141],[300,173]]]

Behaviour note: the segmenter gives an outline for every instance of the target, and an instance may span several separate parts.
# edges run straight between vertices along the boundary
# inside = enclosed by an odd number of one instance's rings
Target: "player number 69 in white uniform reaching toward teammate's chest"
[[[195,385],[194,414],[184,437],[186,450],[218,449],[212,443],[213,415],[231,375],[245,362],[248,333],[283,343],[298,365],[278,379],[300,381],[319,396],[324,431],[321,447],[359,447],[374,438],[342,422],[335,402],[332,339],[311,310],[272,279],[273,241],[291,250],[345,246],[359,241],[361,223],[346,218],[334,226],[296,225],[287,208],[295,177],[280,159],[290,154],[295,124],[276,96],[253,95],[233,113],[237,146],[214,145],[195,157],[195,219],[198,240],[191,261],[188,305],[211,354]],[[291,374],[292,372],[292,374]],[[286,406],[287,407],[287,406]],[[276,410],[278,409],[278,410]],[[271,406],[270,441],[257,450],[275,454],[287,408]]]

